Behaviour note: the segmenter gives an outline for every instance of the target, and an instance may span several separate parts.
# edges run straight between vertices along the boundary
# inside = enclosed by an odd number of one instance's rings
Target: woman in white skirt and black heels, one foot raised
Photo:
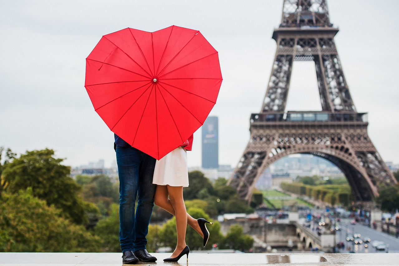
[[[164,261],[178,261],[183,255],[187,255],[190,249],[186,245],[187,224],[194,228],[203,237],[203,246],[209,238],[209,231],[205,219],[194,219],[186,212],[183,199],[183,187],[188,187],[187,151],[191,150],[193,135],[166,156],[157,160],[154,169],[156,184],[154,203],[176,217],[177,244],[172,255]],[[212,224],[212,223],[210,223]]]

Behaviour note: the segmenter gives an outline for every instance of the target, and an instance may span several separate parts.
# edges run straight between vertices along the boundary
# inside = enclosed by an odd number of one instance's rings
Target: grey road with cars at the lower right
[[[379,232],[377,230],[374,230],[370,227],[366,227],[359,223],[357,223],[356,225],[352,225],[349,219],[342,219],[342,221],[340,222],[340,227],[342,228],[342,230],[337,232],[336,242],[340,241],[344,242],[346,252],[349,252],[348,247],[350,247],[355,253],[386,252],[386,250],[385,251],[375,250],[375,248],[371,246],[372,241],[378,240],[378,241],[383,241],[385,242],[385,244],[388,245],[388,251],[390,253],[393,252],[399,253],[399,238],[396,238],[395,236]],[[361,234],[361,238],[367,236],[371,239],[371,242],[367,243],[368,244],[367,248],[365,248],[364,243],[354,244],[353,241],[346,240],[346,234],[351,234],[353,236],[354,233]],[[345,251],[342,250],[341,252]]]

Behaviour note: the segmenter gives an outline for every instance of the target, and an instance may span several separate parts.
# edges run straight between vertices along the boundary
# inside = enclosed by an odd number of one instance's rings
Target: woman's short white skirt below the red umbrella
[[[156,160],[153,184],[188,187],[187,151],[178,147]]]

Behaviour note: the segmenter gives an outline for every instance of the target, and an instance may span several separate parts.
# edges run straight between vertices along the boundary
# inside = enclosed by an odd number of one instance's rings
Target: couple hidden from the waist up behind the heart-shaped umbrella
[[[188,187],[187,150],[191,150],[193,136],[159,161],[130,146],[115,134],[114,148],[119,171],[119,241],[122,263],[155,262],[157,258],[146,250],[148,224],[154,202],[176,217],[177,245],[166,262],[178,261],[190,249],[186,245],[186,227],[190,225],[208,241],[205,219],[194,219],[186,212],[183,187]],[[138,195],[136,213],[134,205]],[[210,223],[212,224],[212,223]]]

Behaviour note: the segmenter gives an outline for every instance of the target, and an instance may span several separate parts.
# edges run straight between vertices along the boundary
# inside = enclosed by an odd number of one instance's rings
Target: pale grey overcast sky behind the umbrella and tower
[[[397,0],[329,0],[344,75],[383,160],[399,163]],[[64,164],[115,160],[113,133],[84,88],[85,58],[102,35],[171,25],[199,30],[219,52],[223,83],[219,164],[235,167],[249,117],[267,89],[282,0],[2,0],[0,146],[18,154],[51,148]],[[313,62],[294,62],[287,110],[321,110]],[[189,166],[201,165],[199,129]]]

